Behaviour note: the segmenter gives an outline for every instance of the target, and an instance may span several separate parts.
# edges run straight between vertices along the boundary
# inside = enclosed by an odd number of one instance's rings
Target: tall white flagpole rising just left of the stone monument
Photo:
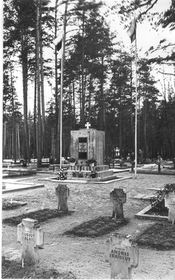
[[[67,2],[65,3],[64,12],[64,30],[62,34],[62,61],[61,61],[61,91],[60,91],[60,155],[59,155],[59,166],[62,168],[62,96],[63,96],[63,83],[64,83],[64,52],[65,52],[65,42],[66,42],[66,12],[67,12]]]

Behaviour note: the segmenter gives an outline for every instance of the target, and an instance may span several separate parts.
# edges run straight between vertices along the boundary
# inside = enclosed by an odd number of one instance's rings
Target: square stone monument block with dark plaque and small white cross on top
[[[71,157],[76,158],[79,164],[94,158],[98,165],[104,165],[105,132],[90,128],[90,123],[85,127],[71,130]]]

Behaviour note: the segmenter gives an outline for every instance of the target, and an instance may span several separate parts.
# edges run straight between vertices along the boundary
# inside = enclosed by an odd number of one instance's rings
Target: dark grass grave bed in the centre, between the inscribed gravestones
[[[77,227],[67,230],[63,235],[75,235],[78,237],[99,237],[127,225],[128,219],[113,219],[111,217],[99,217],[82,223]]]

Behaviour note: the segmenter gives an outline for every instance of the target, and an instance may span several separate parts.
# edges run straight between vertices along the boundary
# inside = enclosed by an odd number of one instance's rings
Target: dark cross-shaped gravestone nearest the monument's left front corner
[[[58,197],[57,209],[66,213],[68,211],[67,199],[69,197],[69,188],[66,185],[59,184],[55,188],[55,193]]]

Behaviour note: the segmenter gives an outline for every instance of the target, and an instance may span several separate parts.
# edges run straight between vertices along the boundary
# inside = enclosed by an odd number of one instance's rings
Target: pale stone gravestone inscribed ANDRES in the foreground
[[[111,279],[132,279],[132,267],[139,263],[139,247],[130,236],[113,234],[106,240],[106,262],[111,265]]]

